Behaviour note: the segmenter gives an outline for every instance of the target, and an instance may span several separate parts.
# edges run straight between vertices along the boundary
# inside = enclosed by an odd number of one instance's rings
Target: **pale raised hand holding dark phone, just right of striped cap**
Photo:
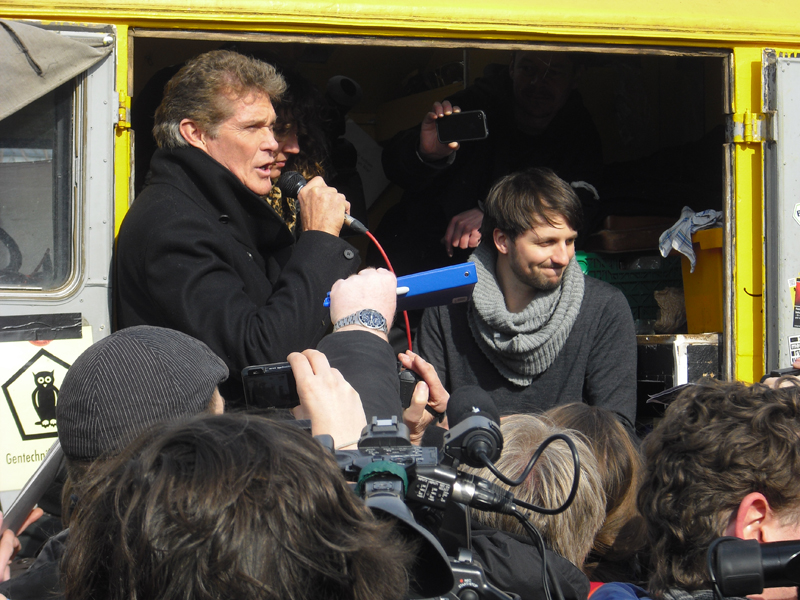
[[[287,360],[300,397],[300,406],[292,411],[295,418],[310,419],[311,434],[330,435],[337,448],[355,448],[361,430],[367,426],[358,392],[330,366],[322,352],[292,352]]]

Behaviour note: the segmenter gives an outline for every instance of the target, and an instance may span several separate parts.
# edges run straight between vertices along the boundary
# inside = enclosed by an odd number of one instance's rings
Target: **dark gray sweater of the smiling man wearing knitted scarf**
[[[614,411],[632,430],[636,334],[630,307],[617,288],[586,277],[581,310],[564,347],[527,387],[509,382],[486,358],[472,336],[468,310],[471,303],[428,308],[417,333],[417,351],[436,368],[450,393],[480,386],[492,395],[501,415],[583,401]]]

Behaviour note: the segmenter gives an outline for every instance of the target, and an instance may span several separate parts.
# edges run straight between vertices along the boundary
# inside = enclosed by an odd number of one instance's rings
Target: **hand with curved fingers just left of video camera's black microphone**
[[[447,410],[450,394],[444,389],[433,365],[421,356],[406,350],[403,354],[398,354],[397,358],[404,368],[411,369],[422,377],[422,381],[414,388],[411,405],[403,411],[403,422],[411,433],[411,443],[418,446],[422,441],[422,434],[436,420],[425,407],[430,406],[436,413],[444,413]],[[439,427],[447,429],[446,416]]]

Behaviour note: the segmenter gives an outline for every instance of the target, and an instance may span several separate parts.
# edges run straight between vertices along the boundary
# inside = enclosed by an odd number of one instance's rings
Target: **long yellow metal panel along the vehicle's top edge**
[[[593,36],[617,42],[702,40],[791,44],[800,39],[800,11],[789,0],[572,0],[530,2],[461,0],[457,4],[401,0],[0,0],[0,14],[47,19],[126,22],[177,27],[366,35],[467,36],[482,39],[546,39]]]

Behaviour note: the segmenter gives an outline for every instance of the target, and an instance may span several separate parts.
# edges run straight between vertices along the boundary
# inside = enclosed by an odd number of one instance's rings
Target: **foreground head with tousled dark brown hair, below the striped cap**
[[[63,564],[70,600],[406,597],[413,554],[293,425],[160,424],[90,476]]]

